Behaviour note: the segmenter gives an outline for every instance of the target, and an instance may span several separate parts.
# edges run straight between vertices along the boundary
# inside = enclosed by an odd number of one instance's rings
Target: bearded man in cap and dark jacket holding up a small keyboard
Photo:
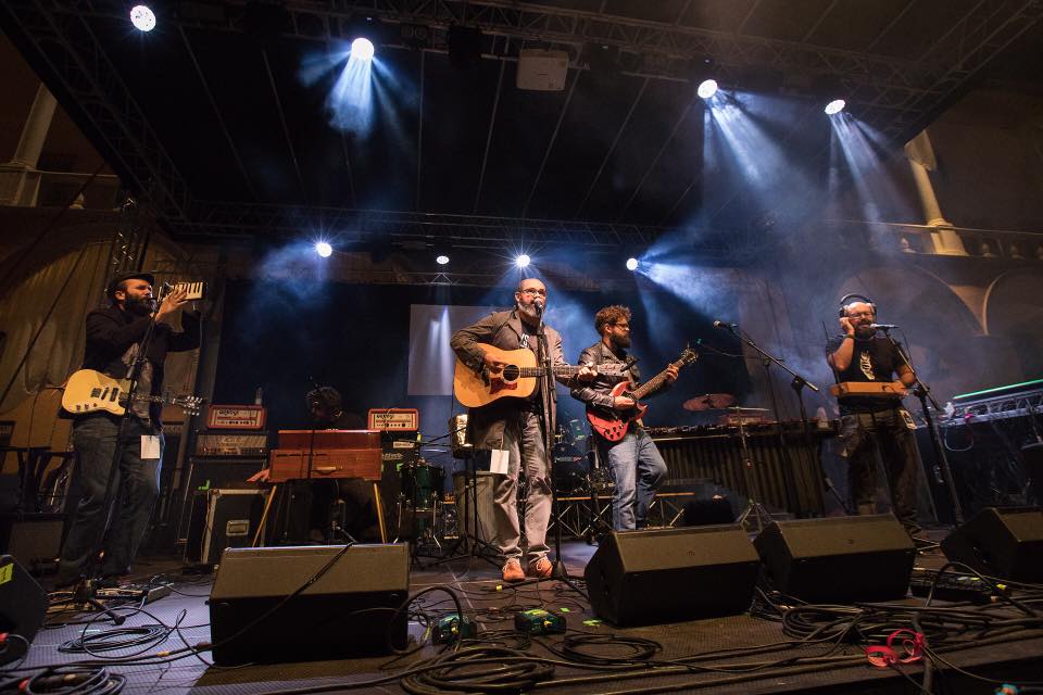
[[[187,302],[185,291],[171,292],[156,306],[152,298],[154,281],[150,273],[116,276],[105,290],[109,306],[87,315],[84,368],[118,379],[126,378],[154,315],[155,328],[138,377],[137,394],[162,394],[167,352],[199,348],[198,313],[184,313],[183,330],[174,330],[174,316]],[[103,507],[121,418],[104,412],[75,418],[73,447],[77,466],[74,485],[79,489],[81,496],[62,547],[55,578],[59,586],[84,579],[90,568],[91,556],[99,549],[104,551],[100,568],[102,584],[114,585],[120,577],[130,571],[130,561],[144,535],[152,505],[159,496],[160,462],[163,457],[162,406],[160,403],[137,401],[127,404],[127,408],[126,439],[118,470],[113,478],[114,494],[111,495],[115,510],[108,531],[105,521],[109,514]],[[104,544],[99,547],[102,533]]]

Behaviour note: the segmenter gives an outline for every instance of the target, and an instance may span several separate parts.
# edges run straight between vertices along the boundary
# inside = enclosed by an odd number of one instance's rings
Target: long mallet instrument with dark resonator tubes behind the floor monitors
[[[769,510],[786,510],[797,517],[821,516],[821,442],[837,435],[834,424],[808,422],[810,443],[797,421],[746,425],[746,442],[756,482],[757,502]],[[666,485],[703,479],[750,496],[738,427],[650,427],[668,469]],[[781,438],[780,438],[781,433]],[[737,511],[739,511],[737,509]]]

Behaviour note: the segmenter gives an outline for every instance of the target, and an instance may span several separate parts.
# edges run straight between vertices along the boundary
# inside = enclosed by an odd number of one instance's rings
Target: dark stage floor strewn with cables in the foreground
[[[581,542],[563,546],[565,564],[573,577],[581,578],[587,560],[594,547]],[[919,566],[937,568],[944,563],[937,552],[920,556]],[[152,644],[147,655],[174,652],[210,640],[209,609],[206,598],[212,577],[184,574],[180,566],[172,560],[146,559],[137,568],[143,577],[164,574],[175,579],[174,593],[144,607],[140,614],[128,618],[124,627],[146,623],[179,626],[167,639]],[[604,655],[606,662],[599,667],[563,664],[554,653],[560,650],[562,635],[537,637],[525,649],[531,657],[553,660],[553,672],[535,688],[545,693],[650,693],[650,692],[706,692],[706,693],[913,693],[922,692],[919,683],[923,669],[919,664],[899,668],[875,668],[867,662],[864,650],[854,645],[794,644],[783,634],[779,621],[751,615],[693,620],[648,628],[616,629],[596,621],[588,603],[577,592],[556,581],[528,582],[507,586],[499,580],[499,570],[491,564],[461,557],[450,563],[427,569],[414,568],[411,574],[411,594],[438,584],[453,587],[461,597],[466,612],[475,616],[482,634],[490,631],[513,629],[513,617],[528,608],[553,608],[565,611],[568,630],[601,635],[602,639],[639,637],[659,645],[651,656],[651,664],[626,665],[619,657],[631,654],[630,647],[620,643],[593,644],[587,649],[593,655]],[[580,584],[581,586],[581,584]],[[698,587],[693,587],[698,591]],[[430,616],[452,611],[452,602],[441,592],[424,596],[420,610]],[[909,605],[922,606],[922,601],[908,599]],[[935,602],[937,605],[944,606]],[[1038,606],[1040,604],[1033,604]],[[970,610],[970,609],[969,609]],[[980,610],[975,608],[973,610]],[[1000,624],[1004,619],[1021,619],[1019,612],[1005,605],[993,606],[989,620]],[[184,611],[184,615],[181,615]],[[39,668],[46,665],[70,664],[88,655],[64,654],[59,646],[68,640],[110,629],[104,620],[90,624],[90,614],[55,611],[49,622],[56,627],[41,630],[29,650],[23,668]],[[65,624],[62,624],[62,623]],[[1038,621],[1043,627],[1043,623]],[[424,639],[424,628],[411,621],[410,633]],[[293,640],[291,634],[273,634],[273,641]],[[1043,681],[1043,630],[1011,629],[965,634],[958,640],[959,647],[943,650],[942,657],[953,667],[998,682]],[[493,640],[479,639],[476,644],[493,644]],[[514,646],[512,641],[500,643]],[[755,649],[758,645],[765,648]],[[137,647],[136,649],[140,649]],[[136,649],[128,648],[106,653],[105,658],[125,656]],[[715,655],[714,653],[744,649],[745,653]],[[257,693],[323,692],[401,693],[401,675],[425,659],[447,657],[443,647],[428,644],[419,652],[392,661],[390,657],[357,658],[336,661],[301,664],[259,665],[238,668],[218,668],[209,664],[210,654],[180,653],[168,660],[153,658],[152,664],[112,665],[110,670],[123,673],[128,693],[196,693],[201,695],[253,695]],[[691,658],[694,655],[707,655]],[[179,658],[175,658],[179,657]],[[684,661],[682,661],[684,659]],[[933,692],[992,693],[994,684],[963,674],[955,668],[939,664],[941,670],[933,675]],[[477,668],[477,667],[472,667]],[[481,667],[487,668],[487,667]],[[32,671],[23,671],[30,674]],[[381,682],[373,682],[384,679]],[[369,684],[364,684],[369,683]],[[300,690],[305,688],[305,690]],[[530,688],[526,688],[530,690]],[[411,692],[425,692],[412,690]],[[429,691],[436,692],[436,691]],[[444,691],[442,691],[444,692]],[[472,692],[481,692],[480,688]],[[504,692],[504,691],[501,691]],[[507,691],[510,692],[510,691]]]

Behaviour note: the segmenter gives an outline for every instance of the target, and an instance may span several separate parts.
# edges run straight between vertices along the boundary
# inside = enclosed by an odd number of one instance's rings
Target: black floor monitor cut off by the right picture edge
[[[953,563],[1017,582],[1043,582],[1043,509],[987,507],[942,541]]]

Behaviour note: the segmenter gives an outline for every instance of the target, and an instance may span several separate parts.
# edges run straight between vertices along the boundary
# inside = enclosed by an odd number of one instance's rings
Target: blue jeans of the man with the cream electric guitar
[[[105,554],[101,576],[127,574],[144,538],[152,506],[160,494],[163,434],[159,434],[160,458],[142,460],[141,435],[154,432],[134,418],[127,424],[126,444],[112,481],[115,494],[112,495],[114,506],[110,507],[110,514],[103,507],[118,429],[118,420],[108,415],[83,418],[73,427],[73,448],[76,450],[73,489],[80,493],[80,497],[62,546],[55,578],[59,584],[79,579],[99,549]],[[106,525],[110,517],[112,523]]]

